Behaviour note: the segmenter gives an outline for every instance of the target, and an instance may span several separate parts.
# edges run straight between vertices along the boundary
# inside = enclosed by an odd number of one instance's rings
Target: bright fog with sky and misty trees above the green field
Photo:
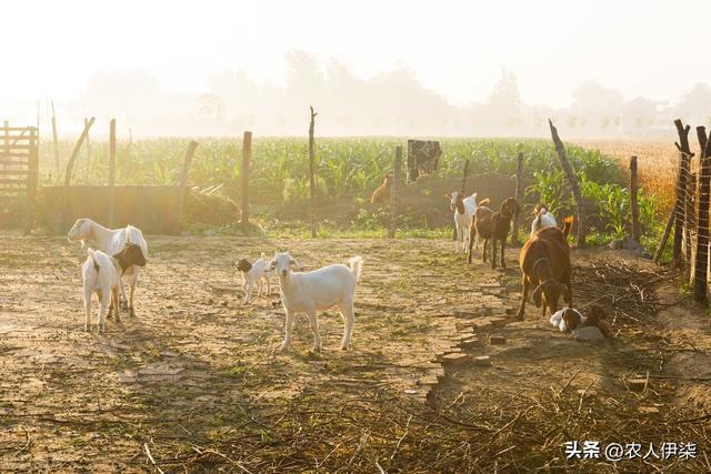
[[[58,4],[60,3],[60,4]],[[661,138],[711,125],[703,2],[28,1],[0,120],[121,134]],[[532,6],[531,3],[534,3]],[[573,4],[570,4],[573,3]],[[703,10],[697,10],[703,11]],[[12,42],[14,41],[14,43]],[[700,48],[700,51],[694,51]]]

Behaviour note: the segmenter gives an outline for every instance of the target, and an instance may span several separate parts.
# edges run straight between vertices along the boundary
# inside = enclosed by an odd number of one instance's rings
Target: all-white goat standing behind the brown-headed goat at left
[[[102,252],[114,255],[123,249],[127,242],[134,243],[141,246],[143,256],[148,259],[148,243],[143,239],[143,233],[140,229],[132,225],[128,225],[124,229],[107,229],[91,219],[79,219],[74,222],[67,234],[67,239],[70,242],[81,241],[81,246],[86,245],[84,241],[92,241],[97,244]],[[133,294],[136,292],[136,285],[138,283],[138,268],[131,265],[126,269],[122,276],[129,276],[131,283],[130,297],[126,297],[126,289],[123,288],[123,279],[120,282],[121,300],[128,302],[128,307],[131,312],[131,316],[136,315],[133,310]]]

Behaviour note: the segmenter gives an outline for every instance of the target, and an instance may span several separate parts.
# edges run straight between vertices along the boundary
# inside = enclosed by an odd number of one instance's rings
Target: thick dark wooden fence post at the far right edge
[[[697,127],[699,138],[700,171],[699,171],[699,221],[697,233],[697,262],[694,265],[693,299],[700,303],[708,302],[707,289],[709,269],[709,204],[711,198],[711,149],[705,127]]]

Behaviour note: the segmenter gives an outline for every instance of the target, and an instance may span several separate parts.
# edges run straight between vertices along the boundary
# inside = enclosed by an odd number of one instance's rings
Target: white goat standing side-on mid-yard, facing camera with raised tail
[[[296,313],[307,313],[313,332],[313,351],[321,351],[317,312],[334,305],[338,305],[346,325],[341,349],[349,347],[356,323],[353,307],[356,284],[360,278],[363,259],[353,256],[349,260],[349,264],[350,268],[337,264],[301,273],[291,271],[297,262],[289,253],[278,253],[269,262],[269,268],[276,268],[279,274],[279,292],[287,313],[284,342],[279,351],[288,350],[291,344],[291,327]]]

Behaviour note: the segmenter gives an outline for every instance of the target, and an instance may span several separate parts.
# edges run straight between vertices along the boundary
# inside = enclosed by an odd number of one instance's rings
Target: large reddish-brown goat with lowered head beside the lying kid
[[[533,290],[533,302],[537,306],[550,307],[551,313],[558,311],[558,299],[565,292],[563,299],[568,306],[572,306],[572,288],[570,283],[570,246],[568,245],[568,234],[573,224],[573,218],[565,218],[565,228],[561,231],[558,228],[541,229],[521,248],[519,263],[522,272],[523,295],[519,319],[523,319],[525,312],[525,300],[531,285]]]

